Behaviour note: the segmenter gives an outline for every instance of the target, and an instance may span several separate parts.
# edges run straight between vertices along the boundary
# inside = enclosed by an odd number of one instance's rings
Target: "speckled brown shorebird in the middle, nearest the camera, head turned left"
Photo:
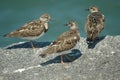
[[[77,42],[80,40],[80,33],[78,31],[78,25],[75,21],[70,21],[66,26],[69,26],[70,30],[61,34],[47,49],[45,49],[39,56],[46,57],[48,54],[60,53],[68,51],[74,48]],[[61,55],[61,63],[63,62],[62,56],[68,58],[66,54]],[[68,58],[70,60],[70,58]]]

